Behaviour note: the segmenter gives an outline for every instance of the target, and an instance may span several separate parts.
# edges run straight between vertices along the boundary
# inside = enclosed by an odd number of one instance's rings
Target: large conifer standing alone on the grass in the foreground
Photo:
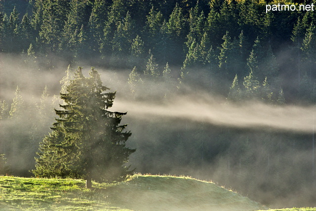
[[[125,143],[131,136],[123,132],[126,125],[119,125],[126,113],[109,111],[115,92],[105,92],[99,73],[91,68],[89,77],[81,68],[75,79],[61,93],[65,104],[56,110],[59,116],[51,128],[53,132],[40,143],[39,157],[36,158],[36,176],[71,176],[86,180],[121,181],[132,171],[124,166],[134,149]]]

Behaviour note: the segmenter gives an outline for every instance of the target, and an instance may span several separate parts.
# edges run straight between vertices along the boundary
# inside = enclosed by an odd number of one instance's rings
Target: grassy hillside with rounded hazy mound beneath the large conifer
[[[118,184],[0,176],[0,211],[251,211],[258,203],[211,182],[175,176],[132,176]]]

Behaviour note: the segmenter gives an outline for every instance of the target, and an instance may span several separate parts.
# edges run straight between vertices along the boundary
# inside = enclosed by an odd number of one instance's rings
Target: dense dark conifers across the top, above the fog
[[[266,13],[266,2],[252,0],[30,0],[24,4],[21,8],[16,0],[1,2],[3,53],[41,58],[51,67],[62,56],[73,64],[136,66],[138,72],[154,55],[159,65],[168,62],[176,67],[175,77],[203,74],[213,79],[213,90],[226,94],[229,86],[218,87],[222,83],[217,81],[233,82],[236,75],[242,79],[252,72],[259,83],[267,77],[275,93],[285,87],[285,95],[293,91],[294,99],[315,99],[314,11]],[[280,81],[284,77],[295,87]]]

